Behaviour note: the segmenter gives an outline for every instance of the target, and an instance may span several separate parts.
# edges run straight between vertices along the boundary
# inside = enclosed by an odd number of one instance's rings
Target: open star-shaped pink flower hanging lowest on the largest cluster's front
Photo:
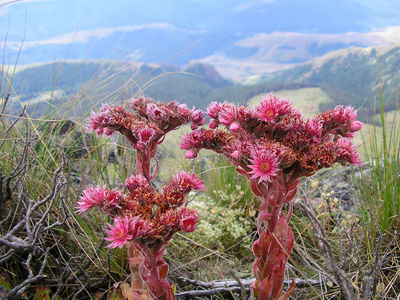
[[[263,180],[272,181],[271,177],[276,175],[278,167],[278,159],[274,154],[268,150],[264,151],[252,151],[253,159],[250,160],[252,165],[249,167],[252,169],[250,174],[253,174],[251,179],[259,178],[258,183]]]

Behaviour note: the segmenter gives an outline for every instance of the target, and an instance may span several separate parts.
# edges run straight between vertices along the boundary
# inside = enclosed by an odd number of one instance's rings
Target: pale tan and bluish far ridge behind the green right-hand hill
[[[368,48],[396,43],[400,43],[400,27],[366,33],[260,33],[236,43],[237,47],[256,49],[245,58],[229,57],[219,53],[204,57],[201,61],[214,65],[225,78],[243,82],[248,76],[289,69],[331,51],[352,46]]]

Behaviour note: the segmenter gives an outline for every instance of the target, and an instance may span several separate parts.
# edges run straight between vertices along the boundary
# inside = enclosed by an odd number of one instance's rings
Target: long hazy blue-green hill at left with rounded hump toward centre
[[[8,71],[12,89],[10,102],[15,112],[28,105],[31,117],[57,111],[72,117],[88,114],[101,103],[121,102],[138,95],[157,101],[178,101],[205,110],[211,101],[228,100],[244,104],[260,93],[281,89],[315,87],[309,83],[262,82],[233,85],[210,65],[191,62],[182,69],[174,65],[156,65],[119,61],[57,61]],[[65,116],[64,116],[65,117]]]

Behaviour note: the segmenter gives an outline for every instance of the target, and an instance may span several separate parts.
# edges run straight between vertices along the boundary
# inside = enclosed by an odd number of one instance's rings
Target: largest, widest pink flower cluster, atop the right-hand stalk
[[[203,148],[223,153],[250,179],[271,181],[277,169],[310,176],[334,163],[361,164],[349,140],[362,126],[352,107],[338,106],[305,120],[290,101],[271,93],[253,110],[213,102],[207,115],[210,129],[193,131],[180,143],[186,157],[195,158]]]

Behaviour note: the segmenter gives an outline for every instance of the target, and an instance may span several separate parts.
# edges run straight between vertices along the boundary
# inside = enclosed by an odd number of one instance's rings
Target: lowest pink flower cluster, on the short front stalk
[[[163,187],[163,193],[153,188],[142,175],[133,175],[125,182],[126,192],[106,187],[88,187],[80,201],[78,212],[99,207],[114,218],[106,230],[108,247],[122,248],[128,241],[168,241],[177,231],[192,232],[199,216],[195,210],[181,207],[191,191],[204,191],[203,181],[194,174],[181,171]]]

